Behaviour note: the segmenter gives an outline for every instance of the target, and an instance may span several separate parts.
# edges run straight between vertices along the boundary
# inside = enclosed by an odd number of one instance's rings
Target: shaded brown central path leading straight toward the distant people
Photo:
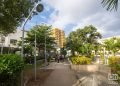
[[[54,69],[54,71],[41,86],[72,86],[76,81],[74,72],[66,62],[53,62],[46,69]]]

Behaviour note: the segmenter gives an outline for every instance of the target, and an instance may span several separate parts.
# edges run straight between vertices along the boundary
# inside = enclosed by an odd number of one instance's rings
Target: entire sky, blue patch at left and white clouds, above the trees
[[[93,25],[103,38],[120,35],[120,8],[107,11],[102,0],[43,0],[44,11],[33,16],[25,26],[26,30],[36,24],[46,23],[53,28],[71,31]]]

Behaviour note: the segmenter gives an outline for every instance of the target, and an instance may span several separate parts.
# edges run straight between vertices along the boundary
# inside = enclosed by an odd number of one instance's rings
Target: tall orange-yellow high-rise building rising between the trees
[[[55,38],[55,42],[57,43],[58,48],[63,48],[65,44],[65,33],[63,30],[58,28],[52,29],[52,37]]]

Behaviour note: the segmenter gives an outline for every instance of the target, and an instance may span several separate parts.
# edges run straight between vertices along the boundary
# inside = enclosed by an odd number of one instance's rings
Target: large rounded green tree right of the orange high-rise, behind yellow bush
[[[101,37],[101,34],[97,32],[94,26],[85,26],[83,29],[77,29],[70,33],[67,38],[67,47],[72,50],[72,52],[77,51],[82,55],[90,57],[91,51],[98,43],[97,39]]]

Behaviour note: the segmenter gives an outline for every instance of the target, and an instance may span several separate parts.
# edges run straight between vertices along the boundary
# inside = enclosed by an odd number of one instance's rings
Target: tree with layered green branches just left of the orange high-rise
[[[54,49],[54,38],[51,37],[51,32],[50,32],[51,26],[41,24],[41,25],[36,25],[34,26],[28,33],[27,37],[25,38],[25,43],[30,44],[31,46],[34,47],[34,41],[35,41],[35,34],[36,34],[36,43],[37,43],[37,48],[39,50],[39,55],[40,55],[40,50],[45,49],[45,36],[46,36],[46,47],[47,51]]]

